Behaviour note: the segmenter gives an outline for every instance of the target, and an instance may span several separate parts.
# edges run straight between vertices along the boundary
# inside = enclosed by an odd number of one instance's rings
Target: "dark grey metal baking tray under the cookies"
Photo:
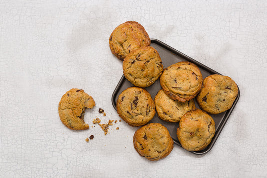
[[[161,57],[164,68],[166,68],[166,67],[168,67],[174,63],[180,62],[180,61],[190,61],[199,67],[199,69],[202,73],[203,79],[209,75],[212,75],[212,74],[220,74],[220,73],[214,71],[213,69],[210,69],[209,67],[201,64],[200,62],[192,59],[191,57],[179,52],[178,50],[170,47],[169,45],[167,45],[167,44],[165,44],[165,43],[163,43],[157,39],[151,39],[151,46],[154,47],[159,52],[159,55]],[[126,88],[129,88],[131,86],[134,86],[134,85],[131,82],[129,82],[124,77],[124,75],[122,75],[118,85],[116,86],[116,88],[112,94],[112,105],[115,109],[116,109],[117,99],[118,99],[119,95],[121,94],[121,92],[123,90],[125,90]],[[157,92],[161,89],[159,79],[153,85],[146,87],[145,89],[151,94],[151,97],[154,98],[156,96]],[[201,154],[205,154],[211,150],[211,148],[215,144],[217,138],[219,137],[224,125],[226,124],[229,116],[231,115],[239,97],[240,97],[240,90],[238,88],[238,95],[237,95],[232,107],[229,110],[222,112],[220,114],[209,114],[215,121],[215,125],[216,125],[215,135],[214,135],[211,143],[205,149],[203,149],[201,151],[190,151],[190,152],[192,152],[194,154],[201,155]],[[199,108],[196,100],[195,100],[195,104],[196,104],[196,108]],[[157,123],[161,123],[162,125],[164,125],[169,130],[170,135],[171,135],[174,143],[181,146],[181,144],[177,138],[177,135],[176,135],[176,131],[177,131],[177,128],[179,127],[179,123],[171,123],[171,122],[163,121],[158,117],[157,113],[155,114],[154,118],[150,122],[157,122]]]

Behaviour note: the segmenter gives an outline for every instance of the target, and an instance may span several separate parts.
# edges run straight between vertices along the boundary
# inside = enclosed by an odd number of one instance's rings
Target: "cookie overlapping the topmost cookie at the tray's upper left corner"
[[[152,85],[163,71],[159,53],[152,46],[132,51],[124,58],[122,66],[125,78],[137,87]]]

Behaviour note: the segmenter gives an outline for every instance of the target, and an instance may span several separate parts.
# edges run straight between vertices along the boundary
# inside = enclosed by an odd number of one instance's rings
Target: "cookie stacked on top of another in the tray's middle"
[[[203,83],[199,68],[191,62],[178,62],[164,69],[160,85],[173,100],[189,101],[201,90]]]

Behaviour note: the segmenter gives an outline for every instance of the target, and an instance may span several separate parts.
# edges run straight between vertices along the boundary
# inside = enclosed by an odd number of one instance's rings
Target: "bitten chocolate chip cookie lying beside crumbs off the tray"
[[[61,122],[72,130],[86,130],[89,125],[84,122],[84,110],[95,106],[94,99],[84,90],[73,88],[67,91],[59,102]]]

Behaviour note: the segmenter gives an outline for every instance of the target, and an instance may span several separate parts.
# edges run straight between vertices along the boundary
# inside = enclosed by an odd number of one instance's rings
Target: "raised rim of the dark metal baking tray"
[[[188,60],[188,61],[190,61],[190,62],[192,62],[192,63],[194,63],[196,65],[198,65],[198,66],[200,66],[201,68],[205,69],[206,71],[210,72],[211,74],[219,74],[219,75],[222,75],[222,74],[218,73],[217,71],[215,71],[215,70],[207,67],[206,65],[204,65],[204,64],[196,61],[195,59],[193,59],[193,58],[185,55],[184,53],[182,53],[182,52],[174,49],[173,47],[171,47],[171,46],[163,43],[162,41],[160,41],[158,39],[153,39],[152,38],[151,39],[151,43],[155,43],[157,45],[160,45],[161,47],[163,47],[163,48],[171,51],[172,53],[174,53],[174,54],[176,54],[176,55],[178,55],[178,56],[180,56],[180,57],[182,57],[182,58],[184,58],[184,59],[186,59],[186,60]],[[120,80],[119,80],[116,88],[114,89],[114,91],[112,93],[111,102],[112,102],[112,105],[113,105],[113,107],[114,107],[115,110],[117,110],[117,108],[116,108],[116,95],[118,94],[118,91],[119,91],[120,87],[122,86],[122,84],[124,83],[125,80],[126,80],[126,78],[122,74],[122,77],[120,78]],[[235,108],[235,105],[237,104],[237,102],[238,102],[238,100],[240,98],[240,90],[239,90],[238,85],[237,85],[237,88],[238,88],[238,95],[237,95],[235,101],[233,102],[232,107],[229,110],[225,111],[226,112],[225,113],[225,116],[223,117],[222,122],[218,126],[218,128],[216,130],[216,133],[215,133],[215,135],[214,135],[214,137],[213,137],[213,139],[212,139],[212,141],[211,141],[208,149],[204,149],[202,151],[189,151],[189,152],[194,153],[196,155],[202,155],[202,154],[206,154],[207,152],[209,152],[212,149],[212,147],[214,146],[215,142],[217,141],[217,139],[218,139],[218,137],[219,137],[219,135],[220,135],[223,127],[225,126],[226,122],[228,121],[228,119],[229,119],[229,117],[230,117],[233,109]],[[173,140],[173,142],[175,144],[179,145],[180,147],[182,147],[181,144],[179,142],[177,142],[176,140]]]

